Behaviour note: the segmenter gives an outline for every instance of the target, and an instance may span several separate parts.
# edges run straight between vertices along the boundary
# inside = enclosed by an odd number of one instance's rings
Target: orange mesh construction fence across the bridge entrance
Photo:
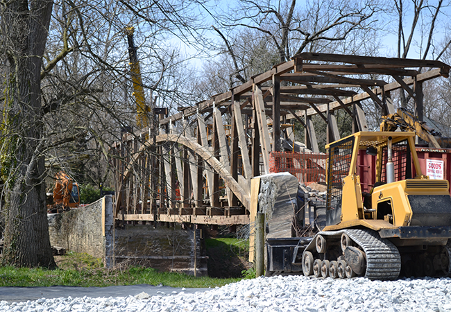
[[[269,171],[288,172],[305,185],[325,182],[327,155],[322,153],[284,153],[271,152]]]

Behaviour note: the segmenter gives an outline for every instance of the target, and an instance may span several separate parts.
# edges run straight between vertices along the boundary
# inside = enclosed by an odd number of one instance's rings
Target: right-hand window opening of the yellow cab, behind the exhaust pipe
[[[386,182],[387,147],[382,148],[382,162],[380,162],[380,180]],[[393,167],[395,169],[395,181],[411,179],[412,161],[409,141],[404,140],[393,144]]]

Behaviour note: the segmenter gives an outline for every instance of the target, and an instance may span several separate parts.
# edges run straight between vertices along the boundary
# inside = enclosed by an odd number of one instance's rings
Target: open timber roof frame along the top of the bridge
[[[432,68],[426,73],[418,73],[418,68]],[[399,89],[406,85],[412,85],[416,79],[428,80],[438,76],[448,77],[450,67],[440,61],[436,60],[414,60],[414,59],[400,59],[400,58],[380,58],[359,55],[338,55],[327,53],[300,53],[288,62],[283,62],[275,65],[271,70],[253,76],[250,80],[242,85],[238,85],[231,89],[231,91],[223,94],[216,94],[207,101],[201,101],[192,107],[185,107],[182,112],[173,114],[166,119],[162,119],[162,125],[169,123],[169,121],[177,121],[182,119],[182,116],[190,116],[196,112],[203,112],[211,109],[213,103],[216,106],[221,106],[225,103],[230,103],[230,98],[233,94],[235,98],[245,96],[246,92],[251,92],[253,85],[262,85],[272,80],[273,75],[280,76],[280,80],[290,81],[300,85],[295,86],[281,86],[280,93],[282,96],[287,94],[302,94],[316,96],[331,96],[335,101],[330,103],[330,109],[336,110],[342,105],[350,105],[356,101],[361,101],[366,98],[371,98],[367,92],[357,94],[355,91],[347,88],[351,87],[376,87],[371,89],[375,95]],[[366,74],[380,74],[384,76],[391,76],[398,78],[400,76],[408,76],[403,79],[405,85],[396,81],[395,83],[386,83],[383,80],[372,80],[364,78],[355,78],[357,75]],[[396,77],[395,77],[396,76]],[[309,89],[312,92],[309,93]],[[264,89],[263,89],[264,90]],[[337,96],[347,96],[337,102]],[[293,98],[296,96],[293,96]],[[246,98],[246,96],[245,96]],[[291,99],[290,99],[291,101]],[[303,100],[300,100],[303,101]],[[321,100],[320,100],[321,101]],[[285,101],[286,102],[286,101]],[[330,101],[328,101],[330,102]],[[248,102],[242,104],[242,108]],[[301,102],[303,103],[303,102]],[[318,103],[321,104],[321,103]],[[325,106],[318,105],[318,110],[325,112]],[[282,109],[282,107],[281,107]],[[316,114],[315,110],[307,110],[308,114]]]

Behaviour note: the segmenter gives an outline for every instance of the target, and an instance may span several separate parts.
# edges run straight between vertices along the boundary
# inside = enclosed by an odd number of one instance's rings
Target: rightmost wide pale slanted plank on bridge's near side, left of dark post
[[[266,123],[266,114],[264,112],[264,103],[262,96],[262,88],[255,85],[255,112],[257,112],[258,130],[261,141],[262,158],[265,174],[269,173],[269,153],[271,153],[271,144],[269,141],[268,124]]]

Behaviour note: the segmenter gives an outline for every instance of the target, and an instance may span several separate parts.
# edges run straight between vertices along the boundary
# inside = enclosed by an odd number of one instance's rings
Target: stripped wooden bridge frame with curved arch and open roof
[[[308,183],[323,174],[313,115],[327,125],[329,143],[340,138],[334,112],[352,117],[352,131],[368,130],[360,102],[393,113],[391,92],[402,88],[423,119],[423,83],[448,77],[449,68],[434,60],[302,53],[176,114],[153,107],[151,126],[124,133],[112,148],[115,218],[248,224],[253,177],[289,171]],[[295,121],[305,128],[304,153],[293,148]]]

